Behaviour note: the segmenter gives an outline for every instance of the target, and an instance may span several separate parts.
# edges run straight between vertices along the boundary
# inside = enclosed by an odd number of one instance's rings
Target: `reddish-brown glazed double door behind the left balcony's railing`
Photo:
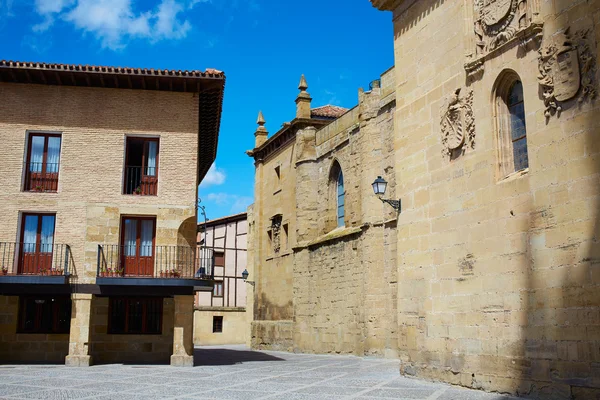
[[[53,214],[23,214],[19,274],[41,274],[52,268]]]

